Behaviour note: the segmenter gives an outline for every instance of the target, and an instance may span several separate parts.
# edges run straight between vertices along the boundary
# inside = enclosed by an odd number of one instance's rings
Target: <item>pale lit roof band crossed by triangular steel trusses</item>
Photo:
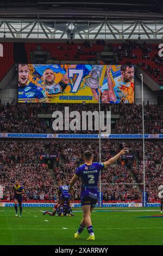
[[[162,39],[163,21],[25,21],[0,19],[0,38]]]

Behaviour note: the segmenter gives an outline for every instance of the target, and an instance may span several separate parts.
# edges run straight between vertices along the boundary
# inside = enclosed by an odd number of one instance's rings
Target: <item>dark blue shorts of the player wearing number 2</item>
[[[98,200],[98,192],[97,191],[90,191],[84,190],[80,195],[81,205],[91,205],[91,208],[96,206]]]

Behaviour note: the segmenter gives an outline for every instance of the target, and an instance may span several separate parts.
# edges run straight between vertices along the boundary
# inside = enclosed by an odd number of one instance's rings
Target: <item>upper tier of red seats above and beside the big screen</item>
[[[3,42],[4,61],[0,63],[1,74],[0,81],[7,74],[8,70],[14,64],[13,44],[11,42]],[[34,43],[27,42],[25,48],[30,63],[30,52],[42,51],[49,52],[54,60],[79,60],[79,61],[96,61],[96,53],[104,51],[107,46],[111,51],[117,53],[117,63],[132,63],[140,65],[156,82],[161,81],[162,77],[162,58],[158,58],[158,44],[148,44],[144,41],[126,40],[122,44],[111,44],[104,40],[97,40],[96,43],[85,41],[83,43],[74,43],[67,41],[66,43]],[[3,59],[2,59],[3,60]],[[116,64],[117,64],[116,63]],[[107,63],[106,63],[107,64]]]

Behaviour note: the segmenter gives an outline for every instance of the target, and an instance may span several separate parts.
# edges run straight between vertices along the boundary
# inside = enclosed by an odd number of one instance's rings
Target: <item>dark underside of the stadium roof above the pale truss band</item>
[[[33,14],[34,12],[40,14],[40,11],[43,11],[46,14],[46,17],[48,17],[48,12],[51,11],[51,13],[54,14],[55,19],[57,19],[59,12],[63,13],[60,17],[64,17],[64,14],[66,14],[67,11],[68,14],[70,16],[72,15],[72,17],[74,17],[75,19],[77,19],[79,13],[81,12],[86,15],[86,11],[88,13],[87,16],[90,17],[91,11],[92,15],[95,14],[95,12],[98,14],[101,11],[106,13],[106,15],[108,15],[107,13],[117,12],[121,12],[124,14],[131,13],[132,16],[130,16],[130,18],[133,17],[133,19],[136,19],[136,16],[134,17],[134,14],[142,14],[142,19],[163,19],[162,0],[6,0],[0,2],[0,17],[3,17],[3,12],[8,12],[9,17],[9,14],[13,14],[13,12],[16,11],[17,13],[19,12],[19,14],[17,14],[18,17],[21,16],[22,11],[24,12],[27,10],[28,12],[29,9]],[[146,14],[146,17],[143,16],[143,14]],[[150,16],[150,14],[158,16]],[[94,16],[96,17],[97,15]],[[121,15],[120,17],[122,19]],[[126,16],[124,15],[123,19],[125,19],[125,17]],[[111,18],[113,19],[114,16],[112,16]],[[115,17],[115,19],[117,19],[117,16]]]

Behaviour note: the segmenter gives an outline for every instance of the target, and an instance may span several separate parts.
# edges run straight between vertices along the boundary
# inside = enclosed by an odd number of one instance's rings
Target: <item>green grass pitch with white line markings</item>
[[[82,209],[74,209],[75,217],[43,216],[43,210],[24,208],[20,218],[14,208],[1,207],[0,245],[163,245],[163,218],[139,218],[160,215],[158,208],[95,209],[95,241],[86,240],[86,229],[74,240]]]

